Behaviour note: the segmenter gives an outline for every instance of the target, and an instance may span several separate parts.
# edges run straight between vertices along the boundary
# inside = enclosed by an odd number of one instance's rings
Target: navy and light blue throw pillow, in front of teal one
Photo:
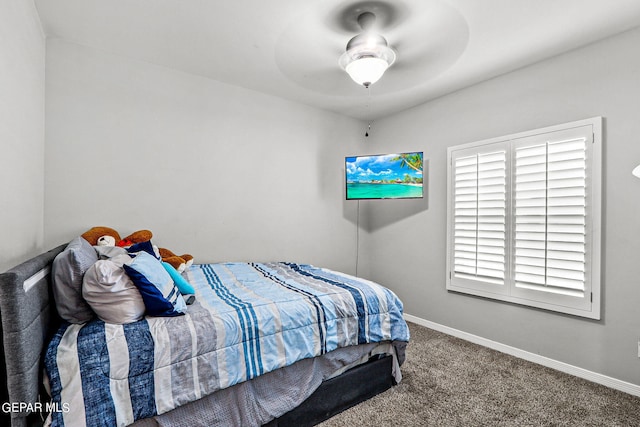
[[[178,316],[187,311],[180,291],[155,257],[138,252],[124,270],[138,287],[149,316]]]

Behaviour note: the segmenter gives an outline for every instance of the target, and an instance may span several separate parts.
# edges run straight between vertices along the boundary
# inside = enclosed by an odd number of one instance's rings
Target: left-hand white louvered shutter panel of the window
[[[454,165],[454,255],[458,278],[504,284],[505,151],[459,157]]]

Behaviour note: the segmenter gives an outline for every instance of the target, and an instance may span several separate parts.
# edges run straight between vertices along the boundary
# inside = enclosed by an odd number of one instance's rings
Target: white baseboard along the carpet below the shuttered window
[[[501,344],[496,341],[491,341],[486,338],[469,334],[467,332],[450,328],[448,326],[440,325],[439,323],[431,322],[429,320],[412,316],[410,314],[405,314],[404,318],[409,322],[417,323],[418,325],[436,330],[438,332],[442,332],[447,335],[452,335],[456,338],[461,338],[465,341],[470,341],[474,344],[478,344],[483,347],[488,347],[493,350],[497,350],[499,352],[518,357],[520,359],[528,360],[529,362],[537,363],[539,365],[546,366],[548,368],[555,369],[560,372],[564,372],[579,378],[583,378],[588,381],[592,381],[597,384],[602,384],[606,387],[610,387],[610,388],[620,390],[625,393],[640,397],[640,385],[618,380],[616,378],[608,377],[606,375],[602,375],[597,372],[588,371],[586,369],[579,368],[577,366],[569,365],[568,363],[559,362],[557,360],[550,359],[548,357],[540,356],[539,354],[531,353],[516,347],[511,347],[505,344]]]

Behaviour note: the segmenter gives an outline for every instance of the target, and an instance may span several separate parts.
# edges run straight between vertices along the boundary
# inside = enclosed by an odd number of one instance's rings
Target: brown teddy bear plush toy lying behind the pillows
[[[136,243],[148,242],[153,237],[153,233],[149,230],[138,230],[122,239],[120,234],[113,228],[92,227],[82,233],[81,237],[92,246],[128,247]],[[162,261],[171,264],[180,273],[193,264],[193,256],[190,254],[176,255],[166,248],[158,248],[158,252]]]

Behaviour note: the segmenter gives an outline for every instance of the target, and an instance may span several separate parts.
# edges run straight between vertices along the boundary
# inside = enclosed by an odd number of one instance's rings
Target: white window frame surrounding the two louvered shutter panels
[[[564,295],[555,297],[551,292],[522,292],[516,290],[514,280],[515,263],[515,147],[526,138],[542,136],[547,133],[576,130],[591,127],[591,141],[588,141],[586,167],[587,207],[585,295],[582,298],[570,297],[575,301],[567,306]],[[507,147],[506,179],[506,265],[504,285],[489,284],[480,280],[454,277],[454,159],[461,153],[473,154],[491,151],[493,147]],[[601,316],[601,224],[602,224],[602,117],[593,117],[555,126],[533,129],[525,132],[496,138],[475,141],[447,148],[447,247],[446,247],[446,289],[448,291],[470,294],[489,299],[541,308],[545,310],[599,320]],[[588,283],[587,283],[588,282]],[[589,289],[590,288],[590,289]],[[538,295],[538,296],[536,296]],[[541,297],[540,297],[541,296]],[[571,299],[573,298],[573,299]]]

